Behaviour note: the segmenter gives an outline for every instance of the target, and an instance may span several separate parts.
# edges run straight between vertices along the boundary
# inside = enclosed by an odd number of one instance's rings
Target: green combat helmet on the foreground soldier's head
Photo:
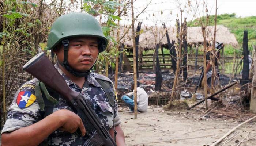
[[[99,52],[106,49],[107,39],[97,19],[86,13],[68,13],[55,20],[50,30],[47,49],[70,37],[90,36],[99,38]]]

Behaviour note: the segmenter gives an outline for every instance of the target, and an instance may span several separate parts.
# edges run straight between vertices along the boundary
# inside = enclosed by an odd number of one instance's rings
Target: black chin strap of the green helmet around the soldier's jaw
[[[91,69],[95,65],[96,61],[94,62],[93,66],[91,66],[91,68],[89,70],[87,70],[86,72],[78,72],[78,71],[74,70],[71,66],[69,66],[69,64],[68,64],[68,45],[69,45],[68,39],[63,40],[62,44],[64,46],[64,59],[63,59],[62,63],[58,61],[60,63],[60,65],[63,66],[68,72],[72,73],[76,77],[88,76],[91,72]]]

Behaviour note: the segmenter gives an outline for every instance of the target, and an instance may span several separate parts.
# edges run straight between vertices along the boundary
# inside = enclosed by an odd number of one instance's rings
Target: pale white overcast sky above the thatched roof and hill
[[[191,6],[188,7],[187,0],[152,0],[143,14],[140,14],[135,24],[138,21],[147,26],[161,25],[166,23],[169,26],[174,26],[175,21],[180,16],[180,8],[184,10],[184,17],[187,20],[195,19],[203,16],[203,0],[197,0],[199,7],[196,7],[196,0],[191,0]],[[208,14],[215,15],[215,0],[205,0],[207,4]],[[134,13],[138,15],[150,2],[150,0],[135,0]],[[181,5],[179,7],[179,4]],[[186,5],[186,6],[185,6]],[[217,0],[217,15],[236,13],[237,17],[256,16],[256,0]],[[189,11],[191,9],[191,11]],[[196,11],[200,12],[195,14]],[[161,12],[162,11],[162,12]],[[162,14],[161,14],[162,13]],[[131,16],[122,18],[121,24],[131,24]]]

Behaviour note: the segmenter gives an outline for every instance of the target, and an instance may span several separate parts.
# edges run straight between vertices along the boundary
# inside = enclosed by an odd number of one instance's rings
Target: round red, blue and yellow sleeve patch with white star
[[[37,98],[30,91],[20,91],[17,96],[17,105],[20,108],[26,108],[32,105]]]

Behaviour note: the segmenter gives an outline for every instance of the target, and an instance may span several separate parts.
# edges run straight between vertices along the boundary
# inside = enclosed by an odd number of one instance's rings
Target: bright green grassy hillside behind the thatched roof
[[[209,16],[209,25],[214,25],[214,15]],[[202,22],[205,21],[205,17],[200,18]],[[256,44],[256,16],[250,16],[245,18],[237,18],[235,13],[217,15],[217,25],[223,25],[227,27],[230,32],[234,33],[240,46],[242,46],[244,30],[248,31],[248,46],[251,49],[251,45]],[[188,26],[200,26],[199,19],[193,20],[188,23]],[[225,47],[226,51],[230,48]],[[232,54],[232,51],[229,50]],[[229,54],[228,53],[228,54]]]

